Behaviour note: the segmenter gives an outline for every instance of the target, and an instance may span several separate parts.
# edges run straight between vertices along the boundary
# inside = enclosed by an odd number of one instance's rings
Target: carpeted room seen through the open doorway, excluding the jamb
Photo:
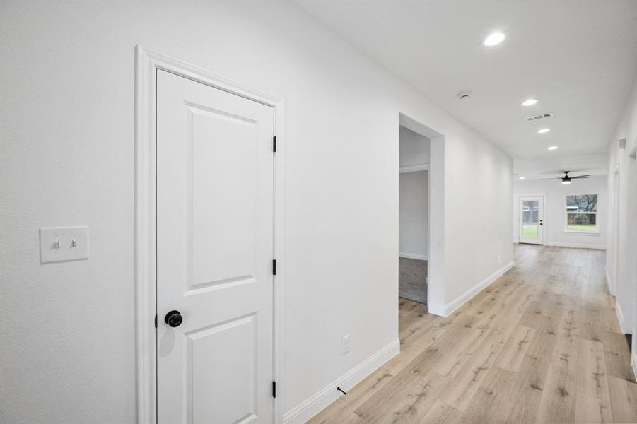
[[[399,127],[399,298],[427,303],[430,140]]]

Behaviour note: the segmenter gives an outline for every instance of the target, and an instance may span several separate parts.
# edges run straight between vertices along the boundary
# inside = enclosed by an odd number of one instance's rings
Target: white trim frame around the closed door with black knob
[[[135,69],[135,283],[137,423],[157,421],[156,375],[156,73],[163,69],[274,108],[274,417],[283,422],[285,254],[284,101],[179,59],[136,46]]]

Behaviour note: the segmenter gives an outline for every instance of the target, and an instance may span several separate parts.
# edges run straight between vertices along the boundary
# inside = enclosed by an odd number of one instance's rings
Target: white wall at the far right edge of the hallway
[[[626,148],[618,148],[619,139],[626,139]],[[614,170],[619,165],[619,240],[613,237],[607,241],[607,278],[614,285],[616,309],[625,333],[637,334],[637,163],[634,155],[637,149],[637,79],[619,119],[614,134],[609,141],[608,204],[609,229],[613,228]],[[631,154],[633,157],[631,157]],[[618,251],[619,247],[619,251]],[[617,272],[614,261],[617,260]],[[637,338],[633,338],[633,369],[637,367]]]

